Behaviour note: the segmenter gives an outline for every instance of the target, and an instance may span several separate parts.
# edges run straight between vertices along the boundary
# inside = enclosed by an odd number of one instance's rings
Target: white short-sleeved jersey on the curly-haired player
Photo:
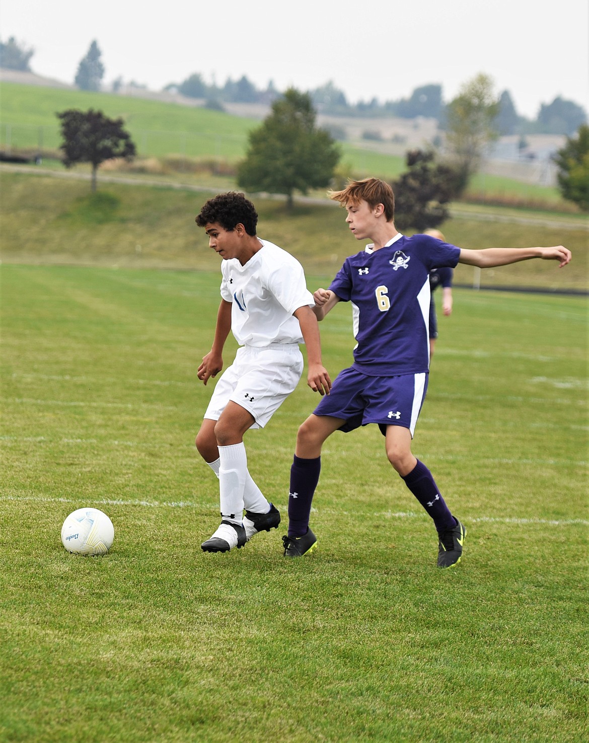
[[[221,263],[221,296],[232,302],[231,330],[239,345],[303,343],[293,312],[315,306],[305,272],[296,258],[266,240],[242,266],[238,259]]]

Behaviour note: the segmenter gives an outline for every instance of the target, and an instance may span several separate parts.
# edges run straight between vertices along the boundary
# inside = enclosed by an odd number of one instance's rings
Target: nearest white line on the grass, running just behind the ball
[[[80,502],[79,498],[50,498],[48,496],[0,496],[0,502],[25,502],[32,501],[36,503],[70,503],[77,504]],[[92,500],[88,503],[88,507],[98,507],[100,505],[111,505],[111,506],[138,506],[141,508],[205,508],[209,510],[217,510],[216,504],[203,504],[195,503],[192,501],[140,501],[137,499],[126,501],[119,498],[102,498]],[[286,507],[283,506],[284,510]],[[313,513],[325,513],[333,516],[357,516],[362,515],[358,512],[351,513],[346,510],[336,508],[312,508]],[[368,515],[368,514],[364,514]],[[374,511],[371,516],[383,519],[426,519],[429,518],[426,513],[417,513],[414,511]],[[466,522],[473,524],[486,523],[486,524],[517,524],[517,525],[550,525],[550,526],[572,526],[582,525],[588,526],[588,519],[521,519],[517,516],[478,516],[475,518],[465,518]]]

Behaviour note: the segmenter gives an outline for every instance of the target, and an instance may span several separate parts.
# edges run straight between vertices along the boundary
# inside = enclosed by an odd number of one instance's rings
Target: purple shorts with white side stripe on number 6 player
[[[331,393],[313,412],[342,418],[345,424],[339,430],[345,433],[376,423],[383,434],[386,426],[402,426],[412,436],[426,398],[428,376],[369,377],[350,367],[339,372]]]

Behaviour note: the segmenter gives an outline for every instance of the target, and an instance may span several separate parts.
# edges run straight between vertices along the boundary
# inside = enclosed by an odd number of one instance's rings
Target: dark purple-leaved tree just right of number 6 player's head
[[[449,217],[448,204],[466,186],[463,173],[448,163],[435,161],[431,150],[407,152],[408,170],[391,186],[394,191],[394,223],[400,230],[418,232],[438,227]]]

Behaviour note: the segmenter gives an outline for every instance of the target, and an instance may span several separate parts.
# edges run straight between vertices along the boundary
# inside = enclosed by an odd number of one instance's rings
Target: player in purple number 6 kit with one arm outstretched
[[[354,363],[336,377],[331,394],[299,427],[290,470],[286,557],[302,557],[316,547],[309,528],[313,493],[319,482],[323,442],[334,431],[377,424],[385,436],[388,461],[405,481],[438,536],[437,566],[461,560],[466,529],[446,505],[432,473],[411,452],[415,424],[426,396],[429,372],[429,272],[459,262],[481,268],[532,258],[570,262],[556,247],[464,250],[432,236],[403,236],[394,226],[394,194],[378,178],[352,181],[331,193],[348,212],[346,223],[365,250],[345,260],[330,288],[314,293],[321,320],[336,302],[351,302]]]

